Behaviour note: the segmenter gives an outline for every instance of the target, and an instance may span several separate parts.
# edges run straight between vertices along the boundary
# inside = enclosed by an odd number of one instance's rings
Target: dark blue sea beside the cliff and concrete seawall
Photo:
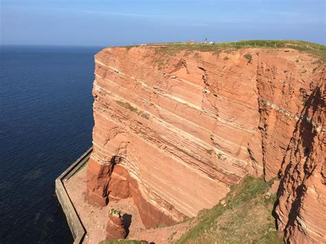
[[[54,180],[91,146],[101,47],[0,48],[0,243],[72,243]]]

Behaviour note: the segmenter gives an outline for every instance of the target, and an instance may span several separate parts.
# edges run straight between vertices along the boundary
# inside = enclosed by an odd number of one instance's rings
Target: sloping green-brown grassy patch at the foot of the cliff
[[[225,206],[199,212],[177,243],[283,243],[273,217],[276,196],[265,197],[271,185],[263,177],[245,177],[231,188]]]

